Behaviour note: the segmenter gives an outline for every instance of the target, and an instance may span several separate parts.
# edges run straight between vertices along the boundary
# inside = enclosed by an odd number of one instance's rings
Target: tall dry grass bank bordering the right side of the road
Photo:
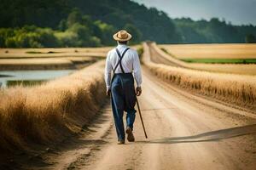
[[[150,59],[148,45],[143,44],[143,64],[157,77],[179,87],[195,90],[218,99],[236,102],[256,109],[256,77],[207,71],[195,71],[171,65],[155,64]]]

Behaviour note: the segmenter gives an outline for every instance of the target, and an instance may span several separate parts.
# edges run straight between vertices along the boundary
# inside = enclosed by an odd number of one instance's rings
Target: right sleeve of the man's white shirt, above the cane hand
[[[141,87],[143,79],[142,79],[142,71],[141,71],[141,64],[140,64],[140,59],[138,57],[137,51],[135,51],[133,55],[133,73],[135,80],[137,82],[137,87]]]

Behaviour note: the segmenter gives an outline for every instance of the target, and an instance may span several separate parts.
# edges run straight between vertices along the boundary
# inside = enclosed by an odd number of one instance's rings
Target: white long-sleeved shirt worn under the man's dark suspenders
[[[122,55],[126,48],[128,48],[126,45],[119,44],[117,46],[120,55]],[[110,50],[107,55],[106,59],[106,66],[105,66],[105,82],[107,85],[107,89],[110,89],[111,86],[111,72],[113,71],[115,65],[119,61],[119,56],[116,53],[115,48]],[[128,49],[128,51],[125,53],[123,59],[121,60],[123,69],[125,73],[133,72],[135,80],[137,82],[137,87],[140,87],[143,80],[142,80],[142,71],[141,71],[141,65],[140,65],[140,59],[138,57],[137,51],[134,49]],[[118,65],[117,69],[114,73],[122,73],[122,70],[120,66]]]

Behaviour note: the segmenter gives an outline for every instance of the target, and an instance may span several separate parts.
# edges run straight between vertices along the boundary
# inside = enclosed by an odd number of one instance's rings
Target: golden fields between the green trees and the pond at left
[[[106,57],[107,48],[1,48],[0,71],[75,69]]]

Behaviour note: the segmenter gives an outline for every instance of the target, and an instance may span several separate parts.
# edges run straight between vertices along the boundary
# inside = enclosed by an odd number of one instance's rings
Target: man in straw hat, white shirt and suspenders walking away
[[[105,81],[107,85],[107,95],[111,95],[113,119],[116,127],[118,144],[125,144],[125,133],[127,140],[133,142],[134,136],[132,133],[133,123],[135,121],[136,110],[136,95],[142,94],[142,74],[140,60],[137,51],[127,46],[131,39],[131,34],[125,30],[121,30],[113,35],[113,39],[118,42],[118,46],[108,52]],[[111,80],[111,72],[113,78]],[[137,88],[134,88],[134,74],[137,82]],[[124,128],[123,115],[126,115],[126,128]]]

